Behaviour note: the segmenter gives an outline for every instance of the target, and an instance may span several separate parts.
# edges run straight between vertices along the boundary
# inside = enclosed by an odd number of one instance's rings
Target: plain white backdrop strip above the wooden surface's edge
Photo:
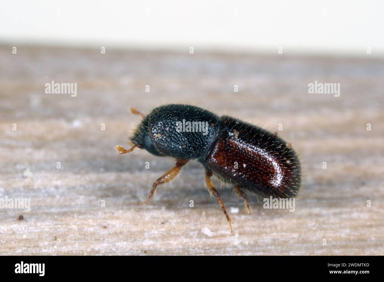
[[[383,3],[1,0],[0,41],[382,56]]]

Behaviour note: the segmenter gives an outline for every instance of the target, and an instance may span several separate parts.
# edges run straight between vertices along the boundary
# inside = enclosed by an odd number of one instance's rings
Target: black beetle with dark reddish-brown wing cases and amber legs
[[[153,183],[144,203],[151,200],[157,186],[174,179],[192,159],[204,166],[205,184],[220,204],[231,233],[231,219],[210,179],[212,175],[234,185],[249,214],[252,209],[244,190],[276,198],[294,198],[299,191],[300,160],[291,144],[276,133],[184,104],[160,106],[148,115],[133,108],[131,111],[142,117],[129,142],[133,147],[126,150],[116,146],[116,150],[125,154],[142,148],[155,156],[175,158],[175,167]]]

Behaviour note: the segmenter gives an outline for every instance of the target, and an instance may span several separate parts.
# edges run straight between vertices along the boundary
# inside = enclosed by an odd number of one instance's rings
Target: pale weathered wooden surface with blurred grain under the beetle
[[[31,199],[30,212],[0,209],[0,254],[383,255],[384,61],[188,51],[0,47],[0,198]],[[45,94],[52,80],[76,82],[77,96]],[[340,83],[340,97],[308,94],[315,80]],[[231,235],[196,161],[137,206],[173,160],[114,147],[140,120],[129,107],[170,102],[283,124],[305,170],[295,212],[248,192],[248,215],[214,181]]]

